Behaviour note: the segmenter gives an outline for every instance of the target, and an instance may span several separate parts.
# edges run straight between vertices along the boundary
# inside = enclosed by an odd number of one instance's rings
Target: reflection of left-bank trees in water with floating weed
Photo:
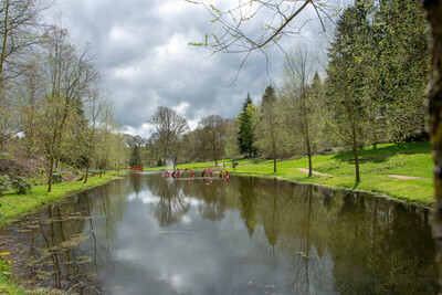
[[[21,241],[15,246],[27,263],[20,268],[22,275],[80,294],[99,289],[98,270],[110,266],[116,224],[125,208],[123,183],[128,182],[113,181],[66,203],[49,206],[23,225],[29,233],[15,232],[14,240]]]

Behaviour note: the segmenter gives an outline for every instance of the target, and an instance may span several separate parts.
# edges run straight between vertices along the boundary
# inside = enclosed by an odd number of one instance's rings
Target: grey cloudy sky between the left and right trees
[[[256,52],[235,81],[243,55],[210,56],[208,50],[188,45],[217,28],[203,7],[185,0],[56,0],[50,14],[60,13],[74,42],[92,44],[124,130],[146,138],[158,106],[180,112],[191,128],[202,116],[236,116],[248,92],[257,102],[269,83],[277,84],[284,63],[284,53],[271,49],[266,69],[264,55]],[[308,18],[314,18],[311,10],[299,24]],[[286,46],[299,40],[287,40]]]

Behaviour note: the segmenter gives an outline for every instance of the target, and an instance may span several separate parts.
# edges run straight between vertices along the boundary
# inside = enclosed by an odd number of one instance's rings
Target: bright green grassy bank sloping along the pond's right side
[[[240,159],[235,173],[281,177],[298,182],[372,191],[425,207],[433,203],[433,164],[429,143],[378,145],[377,148],[360,149],[359,156],[360,182],[355,181],[351,151],[313,157],[313,170],[333,177],[319,175],[308,177],[306,172],[298,170],[299,168],[308,169],[306,157],[280,160],[275,173],[272,160]],[[224,162],[225,168],[232,173],[231,161]],[[219,164],[222,165],[223,161]],[[201,170],[208,166],[213,167],[214,164],[189,164],[178,167]]]

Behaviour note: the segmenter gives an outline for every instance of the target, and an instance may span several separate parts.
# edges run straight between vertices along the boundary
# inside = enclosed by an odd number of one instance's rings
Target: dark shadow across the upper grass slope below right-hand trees
[[[410,144],[391,144],[381,146],[378,148],[361,148],[358,150],[359,162],[383,162],[390,157],[397,156],[399,154],[415,155],[415,154],[430,154],[431,146],[430,143],[410,143]],[[332,157],[334,160],[347,161],[349,164],[355,164],[354,152],[346,151],[336,154]]]

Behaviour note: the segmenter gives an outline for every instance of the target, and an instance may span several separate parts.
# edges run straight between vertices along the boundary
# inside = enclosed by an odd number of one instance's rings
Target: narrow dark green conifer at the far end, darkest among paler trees
[[[245,98],[245,102],[242,106],[242,110],[239,115],[240,133],[238,134],[239,135],[238,141],[240,144],[241,154],[248,152],[249,157],[252,157],[252,154],[254,154],[256,150],[253,146],[255,139],[252,127],[252,117],[246,112],[249,106],[253,106],[253,103],[252,98],[250,97],[250,94],[248,93],[248,97]]]

